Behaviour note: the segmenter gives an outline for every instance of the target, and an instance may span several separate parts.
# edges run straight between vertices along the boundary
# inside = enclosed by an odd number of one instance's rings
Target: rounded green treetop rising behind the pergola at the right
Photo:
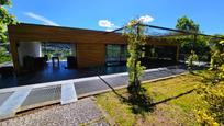
[[[199,24],[195,24],[193,20],[186,15],[177,20],[176,28],[194,33],[200,32]]]

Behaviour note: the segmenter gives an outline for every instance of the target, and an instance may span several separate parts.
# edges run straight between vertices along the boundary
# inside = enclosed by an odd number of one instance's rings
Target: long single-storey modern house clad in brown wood
[[[23,71],[25,56],[43,57],[41,49],[44,43],[70,44],[77,68],[126,60],[127,41],[121,33],[24,23],[10,25],[8,30],[16,72]],[[148,36],[145,47],[146,57],[154,57],[152,47],[157,48],[158,57],[178,60],[179,45],[176,42]]]

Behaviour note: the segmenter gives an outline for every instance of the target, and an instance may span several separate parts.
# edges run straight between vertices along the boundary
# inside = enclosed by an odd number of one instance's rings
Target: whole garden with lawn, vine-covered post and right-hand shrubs
[[[199,35],[198,28],[188,32],[192,33],[188,38],[195,39],[195,35]],[[224,54],[220,36],[200,36],[212,44],[208,56],[210,67],[194,70],[194,62],[200,60],[202,55],[198,55],[199,50],[193,43],[186,59],[188,73],[142,83],[141,76],[145,67],[141,66],[139,58],[144,56],[141,47],[145,44],[145,25],[141,21],[132,20],[124,27],[124,35],[128,38],[130,84],[126,89],[100,94],[96,99],[98,105],[109,113],[115,124],[224,125]],[[178,36],[177,39],[179,38]]]

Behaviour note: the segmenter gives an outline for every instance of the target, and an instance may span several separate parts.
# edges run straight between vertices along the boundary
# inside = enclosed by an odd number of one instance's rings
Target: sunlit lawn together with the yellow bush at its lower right
[[[127,102],[131,94],[126,89],[117,90],[120,95],[114,92],[97,95],[97,103],[121,126],[219,125],[215,119],[220,124],[224,121],[222,111],[224,82],[219,82],[204,92],[200,90],[206,83],[205,78],[210,78],[211,75],[213,72],[201,70],[194,75],[188,73],[157,82],[143,83],[146,95],[153,99],[153,103],[145,106],[147,108],[134,108],[136,106]],[[213,118],[208,114],[217,114],[220,117],[214,116]]]

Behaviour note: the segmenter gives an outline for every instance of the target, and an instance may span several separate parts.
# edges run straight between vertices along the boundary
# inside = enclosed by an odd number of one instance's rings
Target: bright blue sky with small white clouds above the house
[[[12,0],[20,22],[110,31],[133,18],[175,27],[187,15],[206,34],[224,34],[224,0]]]

